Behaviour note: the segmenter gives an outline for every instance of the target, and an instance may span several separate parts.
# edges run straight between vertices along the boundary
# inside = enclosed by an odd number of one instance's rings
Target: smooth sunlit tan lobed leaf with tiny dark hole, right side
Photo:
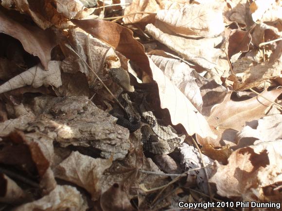
[[[262,96],[274,101],[281,93],[282,89],[277,89],[265,91]],[[197,141],[202,146],[224,146],[222,140],[228,141],[230,145],[232,144],[231,146],[234,146],[236,133],[242,130],[248,122],[263,117],[265,109],[272,104],[260,96],[244,101],[232,101],[230,96],[229,92],[223,102],[212,109],[212,114],[208,118],[208,123],[217,135],[217,139],[204,139],[197,135]]]

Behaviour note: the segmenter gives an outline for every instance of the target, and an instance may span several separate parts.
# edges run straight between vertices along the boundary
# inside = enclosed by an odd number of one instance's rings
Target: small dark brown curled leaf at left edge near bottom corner
[[[0,196],[2,203],[21,203],[27,196],[16,182],[2,173],[0,173],[0,189],[3,190]]]

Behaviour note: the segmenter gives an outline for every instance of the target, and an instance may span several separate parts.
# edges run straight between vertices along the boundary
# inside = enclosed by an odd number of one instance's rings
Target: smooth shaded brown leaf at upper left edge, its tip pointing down
[[[43,31],[38,27],[16,22],[2,12],[0,12],[0,22],[0,32],[18,39],[23,48],[28,53],[38,56],[42,65],[48,70],[51,50],[56,45],[53,33],[50,30]]]

